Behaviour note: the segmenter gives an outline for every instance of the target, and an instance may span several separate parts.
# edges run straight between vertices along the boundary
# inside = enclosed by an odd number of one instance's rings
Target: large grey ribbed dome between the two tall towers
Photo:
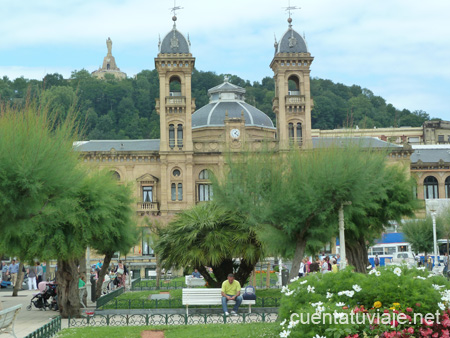
[[[261,110],[244,101],[245,89],[225,82],[208,90],[209,104],[192,115],[192,128],[224,126],[226,118],[241,118],[246,126],[274,128],[272,120]]]

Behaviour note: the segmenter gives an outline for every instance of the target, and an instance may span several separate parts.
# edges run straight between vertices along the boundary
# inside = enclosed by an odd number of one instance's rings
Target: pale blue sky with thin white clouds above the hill
[[[177,28],[196,68],[261,81],[273,76],[274,35],[289,0],[177,0]],[[359,85],[398,109],[450,120],[450,1],[291,0],[293,28],[314,56],[311,76]],[[94,71],[106,39],[128,76],[154,69],[173,0],[0,0],[0,77],[65,78]]]

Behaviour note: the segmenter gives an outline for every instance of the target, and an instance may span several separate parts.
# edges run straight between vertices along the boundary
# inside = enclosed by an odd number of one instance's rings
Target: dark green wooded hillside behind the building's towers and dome
[[[261,82],[246,81],[230,75],[230,82],[244,87],[246,100],[266,113],[274,122],[272,99],[275,82],[265,77]],[[192,97],[197,109],[209,102],[208,89],[223,82],[224,75],[194,69]],[[41,95],[42,94],[42,95]],[[74,98],[76,95],[76,98]],[[399,110],[359,86],[345,86],[330,80],[311,79],[314,98],[312,127],[335,129],[341,127],[420,127],[429,115],[416,110]],[[159,97],[159,80],[156,70],[143,70],[135,78],[100,80],[88,71],[72,72],[70,79],[60,74],[47,74],[42,81],[23,77],[11,81],[0,79],[0,100],[24,106],[27,99],[37,98],[49,105],[51,112],[65,115],[70,103],[80,111],[84,139],[143,139],[159,138],[159,116],[155,99]]]

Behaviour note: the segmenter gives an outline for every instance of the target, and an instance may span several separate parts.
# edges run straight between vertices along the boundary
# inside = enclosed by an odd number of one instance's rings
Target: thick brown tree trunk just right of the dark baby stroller
[[[58,305],[62,318],[80,316],[78,279],[78,267],[75,260],[58,259],[56,281],[58,283]]]

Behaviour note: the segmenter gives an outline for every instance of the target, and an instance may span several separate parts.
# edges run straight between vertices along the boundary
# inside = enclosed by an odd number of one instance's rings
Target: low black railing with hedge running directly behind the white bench
[[[256,304],[253,307],[279,307],[281,297],[256,297]],[[202,305],[189,306],[190,308],[204,308]],[[145,309],[180,309],[184,308],[181,298],[170,299],[114,299],[108,304],[104,304],[101,307],[97,306],[101,310],[145,310]],[[208,306],[208,308],[220,308],[217,306]]]

